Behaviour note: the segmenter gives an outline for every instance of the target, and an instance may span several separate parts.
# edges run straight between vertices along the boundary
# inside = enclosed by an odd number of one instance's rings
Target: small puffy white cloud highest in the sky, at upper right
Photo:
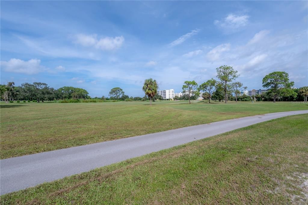
[[[224,29],[236,29],[239,27],[244,27],[248,23],[248,15],[233,15],[229,14],[227,17],[221,21],[215,20],[214,24],[216,26],[222,27]]]

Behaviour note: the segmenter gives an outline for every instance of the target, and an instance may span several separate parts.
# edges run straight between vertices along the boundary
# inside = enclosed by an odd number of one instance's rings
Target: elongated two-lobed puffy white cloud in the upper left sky
[[[85,34],[78,34],[76,35],[75,43],[81,44],[86,47],[95,47],[101,50],[115,50],[120,48],[124,43],[123,36],[116,36],[116,37],[104,37],[104,38],[97,38],[96,34],[92,35],[85,35]]]

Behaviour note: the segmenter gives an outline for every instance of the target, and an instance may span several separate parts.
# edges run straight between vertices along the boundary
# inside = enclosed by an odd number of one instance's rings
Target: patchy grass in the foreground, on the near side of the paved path
[[[308,115],[252,125],[34,188],[1,204],[307,204]]]

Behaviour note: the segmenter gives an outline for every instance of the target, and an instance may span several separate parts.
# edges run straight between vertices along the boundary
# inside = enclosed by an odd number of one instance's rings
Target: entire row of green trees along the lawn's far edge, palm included
[[[308,86],[302,88],[293,88],[294,82],[289,80],[289,75],[286,72],[271,72],[262,79],[262,86],[269,88],[267,92],[256,96],[241,95],[241,90],[247,89],[241,82],[235,81],[239,76],[237,71],[232,66],[220,66],[216,68],[217,80],[211,78],[206,82],[198,85],[197,82],[185,81],[182,87],[183,96],[174,97],[175,100],[195,100],[202,92],[202,97],[208,99],[209,103],[212,100],[238,100],[250,101],[254,98],[257,101],[305,101],[307,102]],[[234,82],[233,82],[234,81]],[[9,100],[36,100],[43,102],[44,100],[59,100],[59,99],[90,99],[89,93],[83,88],[75,88],[64,86],[59,89],[49,87],[46,83],[34,82],[23,83],[20,86],[15,86],[14,82],[8,82],[6,85],[0,85],[1,99],[8,103]],[[109,92],[109,97],[102,96],[101,100],[163,100],[162,96],[157,94],[158,84],[152,78],[146,79],[142,90],[145,93],[144,97],[129,97],[125,95],[123,89],[116,87]],[[234,95],[233,95],[234,94]],[[95,97],[96,99],[98,97]]]

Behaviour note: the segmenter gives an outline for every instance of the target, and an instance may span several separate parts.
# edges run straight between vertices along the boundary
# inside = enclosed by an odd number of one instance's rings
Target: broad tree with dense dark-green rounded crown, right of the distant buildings
[[[270,88],[267,92],[273,98],[273,102],[282,96],[295,95],[292,89],[294,82],[289,82],[289,74],[286,72],[271,72],[263,78],[262,85],[265,88]]]

